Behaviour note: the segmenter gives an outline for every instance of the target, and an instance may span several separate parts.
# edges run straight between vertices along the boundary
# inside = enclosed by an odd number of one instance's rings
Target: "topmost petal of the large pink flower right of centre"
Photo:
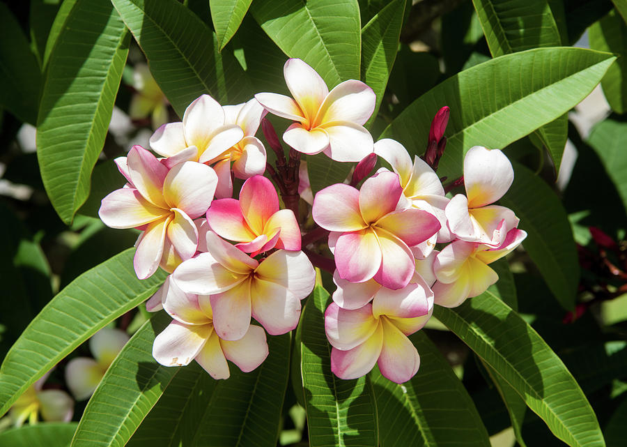
[[[364,222],[374,223],[396,209],[403,194],[399,182],[398,174],[393,172],[380,172],[364,181],[359,190],[359,209]]]

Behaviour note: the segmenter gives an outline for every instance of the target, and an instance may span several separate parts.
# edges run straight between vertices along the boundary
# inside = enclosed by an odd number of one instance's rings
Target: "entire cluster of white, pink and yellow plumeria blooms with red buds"
[[[435,116],[424,158],[412,161],[400,143],[373,142],[363,127],[376,104],[366,84],[349,80],[329,91],[300,59],[289,59],[284,75],[293,98],[258,93],[222,107],[203,95],[182,122],[150,138],[162,158],[134,146],[116,160],[127,184],[102,200],[100,217],[141,230],[138,278],[159,267],[171,273],[146,304],[172,317],[153,356],[172,366],[195,359],[216,379],[229,377],[227,360],[254,370],[268,355],[266,333],[297,326],[316,265],[336,285],[325,312],[334,374],[353,379],[378,363],[402,383],[419,368],[408,335],[426,324],[433,305],[481,294],[498,278],[488,264],[526,236],[511,210],[493,204],[513,181],[511,164],[499,150],[474,146],[463,178],[451,184],[463,183],[465,195],[449,199],[434,170],[446,146],[447,107]],[[283,135],[288,160],[268,112],[293,121]],[[256,137],[262,121],[276,170]],[[359,164],[350,182],[312,197],[302,153]],[[369,176],[377,157],[392,170]],[[235,178],[244,180],[237,198]],[[314,228],[299,220],[299,197],[313,202]],[[318,243],[327,235],[333,259]]]

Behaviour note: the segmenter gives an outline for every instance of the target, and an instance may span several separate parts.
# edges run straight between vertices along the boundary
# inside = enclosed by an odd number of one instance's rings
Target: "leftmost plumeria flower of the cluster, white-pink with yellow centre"
[[[111,228],[144,230],[134,257],[135,273],[143,280],[160,264],[168,269],[196,253],[198,232],[192,219],[209,208],[217,176],[197,162],[169,169],[141,146],[128,153],[126,169],[121,173],[129,184],[104,197],[98,215]]]

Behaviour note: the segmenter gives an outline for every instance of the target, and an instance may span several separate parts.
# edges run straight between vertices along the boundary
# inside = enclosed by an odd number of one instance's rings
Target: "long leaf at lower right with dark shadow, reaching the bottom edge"
[[[490,291],[434,315],[525,400],[569,446],[605,446],[589,402],[564,363]]]

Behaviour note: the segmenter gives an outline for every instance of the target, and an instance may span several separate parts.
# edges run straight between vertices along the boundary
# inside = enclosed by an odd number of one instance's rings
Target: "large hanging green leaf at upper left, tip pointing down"
[[[130,35],[108,0],[78,0],[50,54],[37,156],[48,197],[69,224],[89,195]]]

